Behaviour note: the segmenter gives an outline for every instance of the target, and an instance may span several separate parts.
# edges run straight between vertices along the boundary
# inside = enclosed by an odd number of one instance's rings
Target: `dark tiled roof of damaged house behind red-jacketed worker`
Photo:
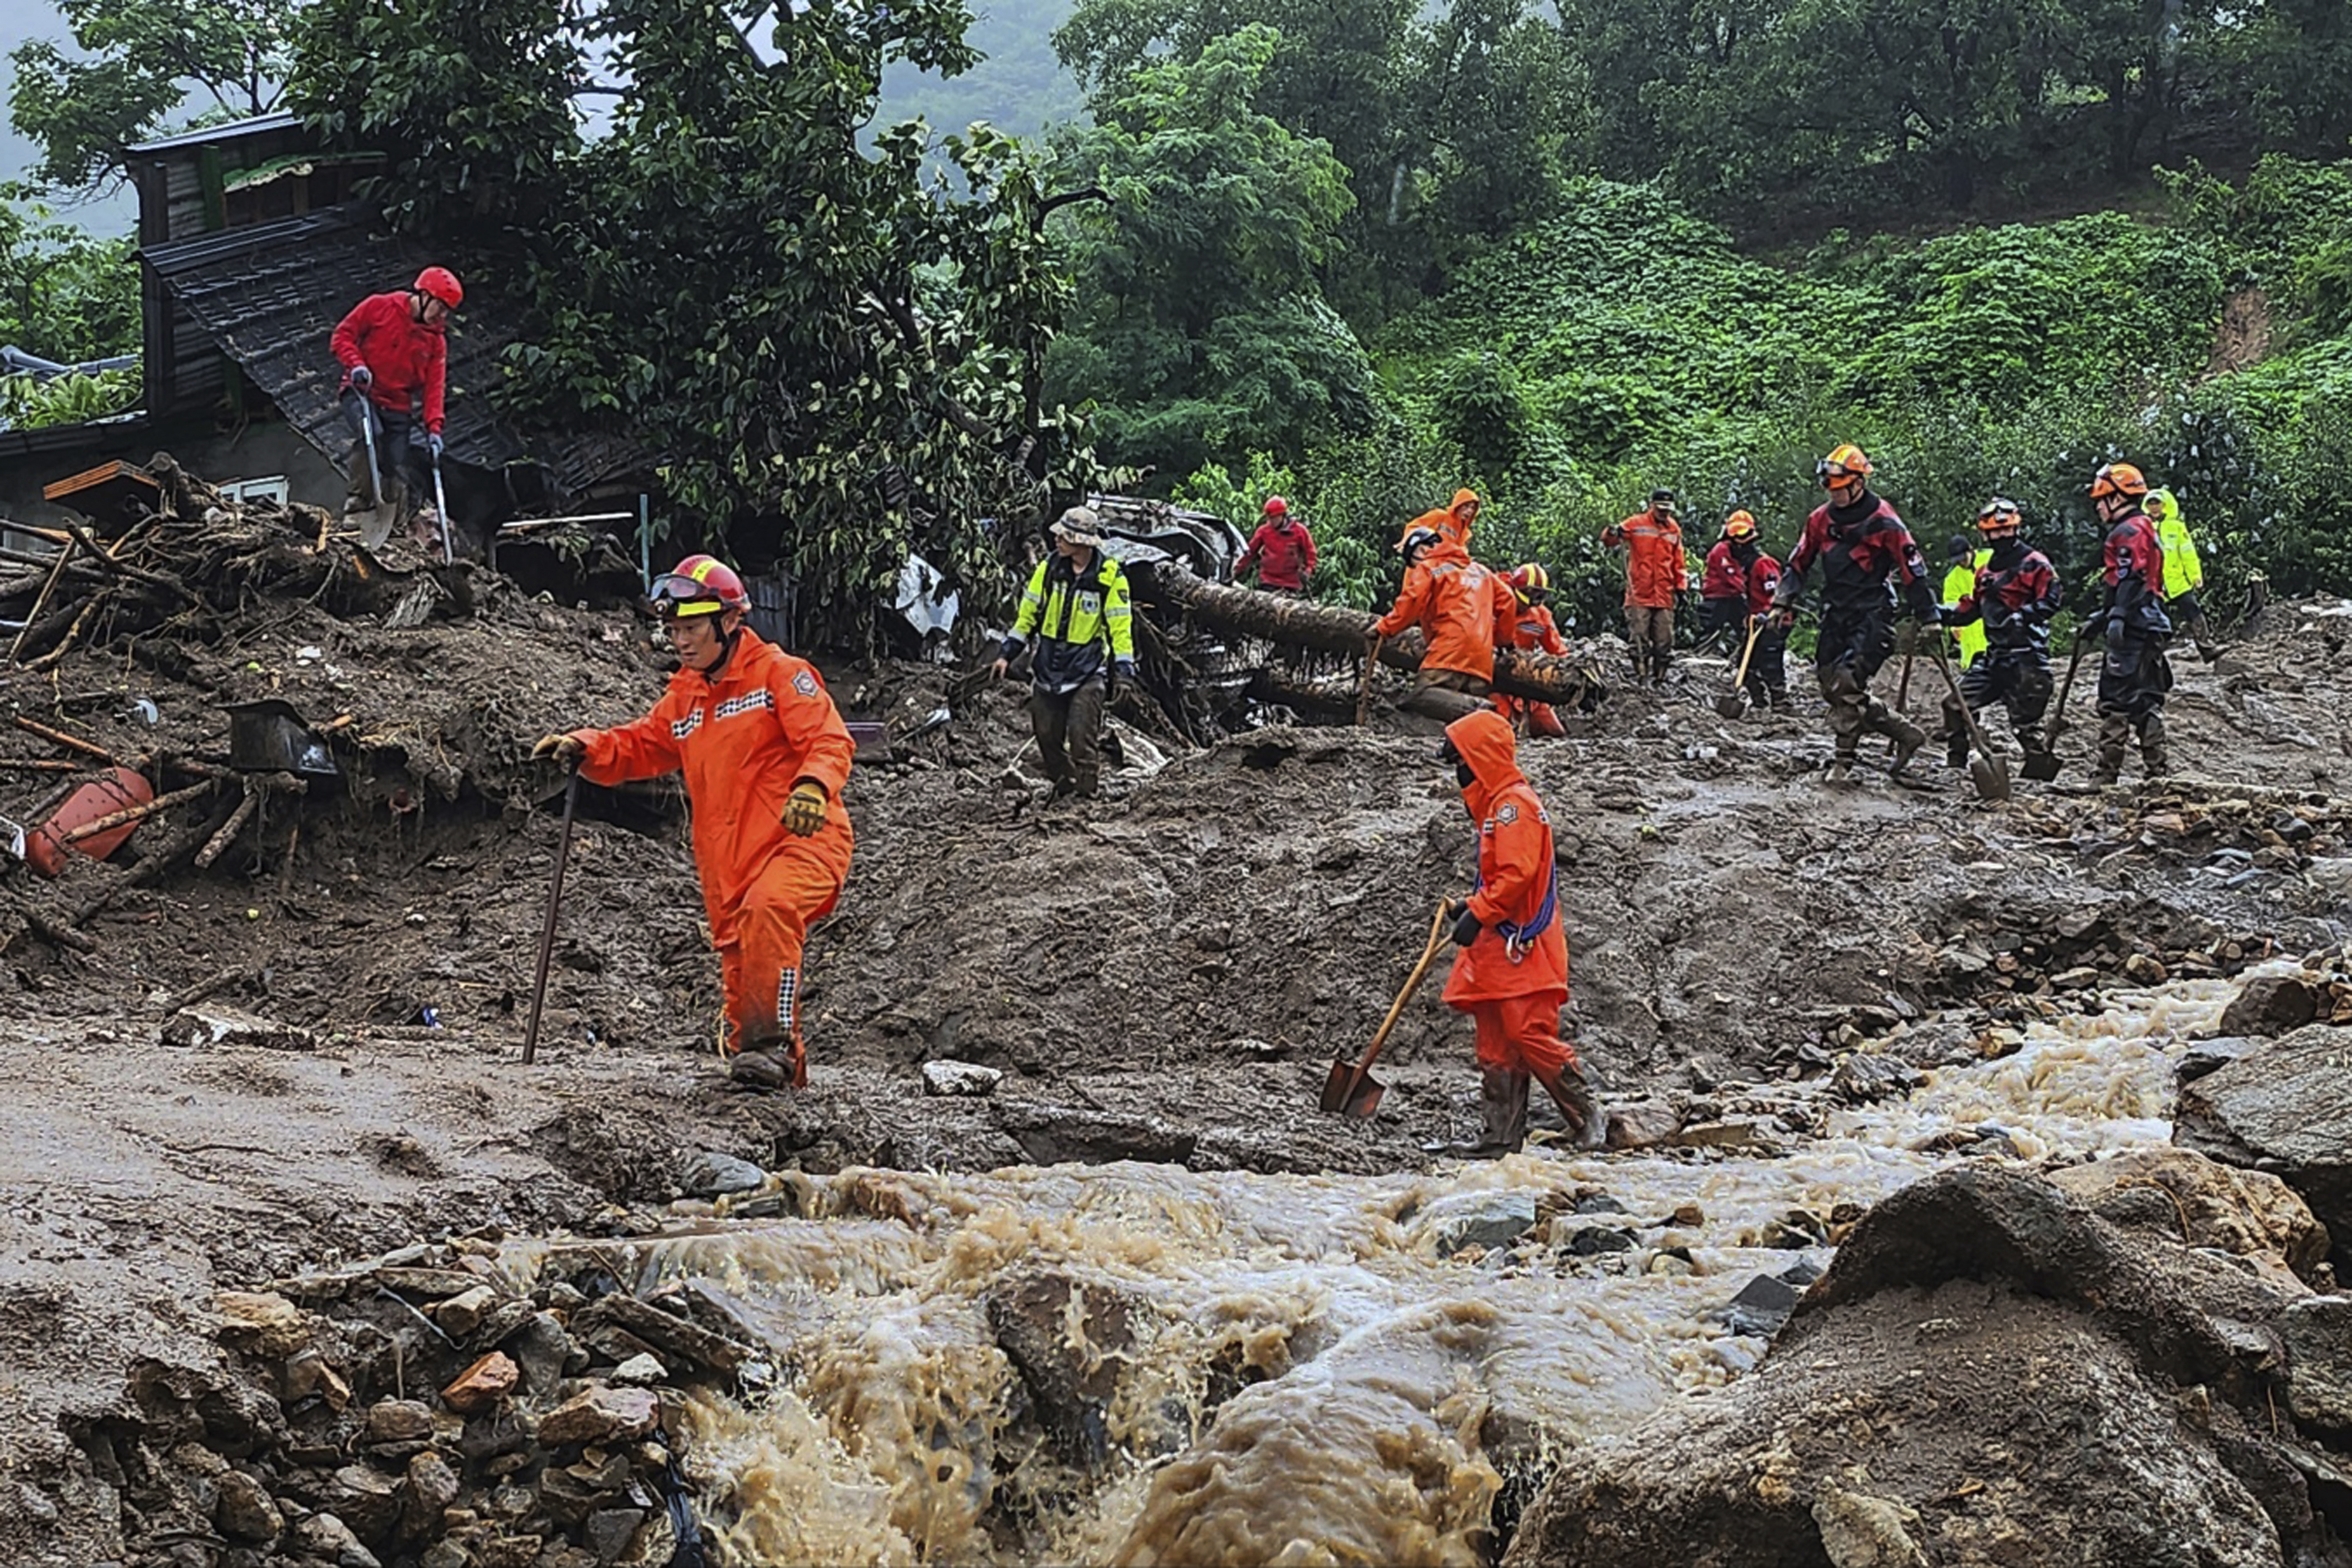
[[[334,402],[343,378],[327,348],[334,324],[365,296],[405,287],[433,261],[409,240],[369,233],[360,207],[230,228],[148,247],[141,256],[329,463],[341,463],[350,449]],[[485,393],[499,378],[499,353],[513,341],[515,320],[506,301],[477,282],[466,284],[466,308],[449,331],[442,433],[449,456],[477,468],[536,463],[560,496],[649,468],[652,458],[623,437],[524,437],[492,418]]]

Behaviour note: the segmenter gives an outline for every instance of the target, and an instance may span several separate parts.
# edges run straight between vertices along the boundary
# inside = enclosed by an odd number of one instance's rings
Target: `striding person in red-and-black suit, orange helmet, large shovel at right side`
[[[1837,757],[1830,783],[1853,778],[1853,755],[1863,731],[1896,743],[1891,773],[1900,776],[1926,745],[1926,731],[1870,693],[1896,646],[1896,585],[1919,625],[1943,625],[1936,592],[1926,581],[1919,541],[1903,527],[1896,508],[1870,491],[1870,458],[1860,447],[1839,447],[1813,465],[1828,503],[1804,520],[1804,534],[1790,550],[1788,571],[1773,592],[1773,623],[1788,630],[1797,621],[1804,578],[1820,562],[1820,642],[1813,649],[1813,675],[1830,703],[1830,733]]]

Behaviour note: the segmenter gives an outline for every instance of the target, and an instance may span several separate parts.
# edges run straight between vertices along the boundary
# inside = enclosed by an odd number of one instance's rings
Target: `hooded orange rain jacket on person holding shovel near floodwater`
[[[1552,865],[1552,818],[1519,771],[1519,748],[1498,712],[1479,710],[1446,724],[1446,738],[1470,764],[1463,804],[1477,820],[1477,940],[1454,954],[1446,1004],[1498,1001],[1543,992],[1569,994],[1569,938],[1559,929],[1559,870]]]

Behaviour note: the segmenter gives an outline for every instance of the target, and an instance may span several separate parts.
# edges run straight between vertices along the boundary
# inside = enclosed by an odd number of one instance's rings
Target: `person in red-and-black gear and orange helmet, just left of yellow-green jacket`
[[[2164,543],[2147,517],[2147,477],[2131,463],[2107,463],[2091,480],[2091,505],[2107,524],[2100,552],[2107,602],[2086,616],[2077,637],[2103,637],[2107,656],[2098,665],[2098,766],[2091,783],[2114,783],[2124,773],[2124,748],[2140,736],[2140,762],[2150,778],[2171,771],[2164,750],[2164,693],[2173,689],[2173,665],[2164,644],[2173,621],[2164,614]]]

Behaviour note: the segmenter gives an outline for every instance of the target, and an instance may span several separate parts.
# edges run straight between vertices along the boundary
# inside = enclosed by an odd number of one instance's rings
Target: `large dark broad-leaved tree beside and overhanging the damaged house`
[[[788,567],[814,632],[870,632],[910,548],[1002,585],[981,520],[1101,480],[1042,388],[1068,294],[1047,216],[1068,197],[985,127],[946,141],[964,197],[927,174],[915,125],[858,148],[887,61],[971,63],[960,0],[612,0],[579,40],[539,0],[409,0],[381,35],[374,0],[313,16],[296,101],[339,146],[416,169],[393,212],[452,226],[489,202],[506,223],[487,275],[529,320],[499,402],[666,454],[673,510]],[[379,59],[353,59],[360,33]],[[579,45],[616,85],[581,78]],[[557,82],[612,94],[604,136],[560,125]],[[485,113],[452,120],[473,96]]]

